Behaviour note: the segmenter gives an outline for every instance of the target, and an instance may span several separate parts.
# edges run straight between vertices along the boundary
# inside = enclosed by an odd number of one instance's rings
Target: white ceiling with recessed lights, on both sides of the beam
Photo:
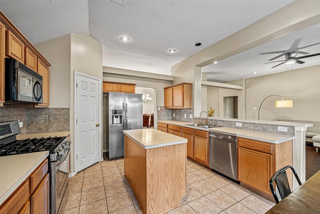
[[[32,43],[41,43],[70,33],[91,35],[103,44],[103,66],[170,75],[170,67],[257,20],[277,11],[293,0],[0,0],[0,10]],[[314,30],[314,29],[313,29]],[[270,70],[263,65],[273,55],[262,52],[289,49],[296,38],[299,47],[320,42],[301,30],[268,44],[242,52],[207,66],[215,72],[209,79],[220,82],[287,70],[283,65]],[[129,36],[123,43],[121,36]],[[309,37],[306,37],[309,36]],[[313,37],[312,37],[313,36]],[[195,43],[201,46],[194,46]],[[175,48],[176,53],[168,52]],[[318,47],[303,51],[320,53]],[[320,57],[313,57],[319,60]],[[295,66],[310,66],[309,60]],[[232,62],[232,63],[230,63]],[[319,64],[319,63],[318,63]],[[236,65],[236,67],[234,66]],[[216,73],[223,73],[217,75]]]

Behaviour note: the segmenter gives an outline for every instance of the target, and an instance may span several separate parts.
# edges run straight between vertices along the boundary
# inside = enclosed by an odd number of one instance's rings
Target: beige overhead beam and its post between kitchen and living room
[[[203,110],[203,107],[198,107],[201,102],[196,99],[196,97],[201,94],[201,86],[195,82],[195,79],[199,79],[195,76],[195,73],[197,74],[197,68],[318,23],[320,20],[318,2],[307,1],[307,3],[308,4],[305,4],[305,1],[295,1],[212,46],[182,60],[176,65],[173,65],[171,67],[171,75],[174,76],[173,84],[180,82],[194,83],[193,108],[196,112]],[[294,16],[292,16],[292,14],[294,14]],[[287,17],[290,17],[290,19],[287,19]],[[196,87],[199,87],[199,89]],[[241,100],[239,99],[239,101]],[[219,112],[219,114],[221,114],[221,112]],[[243,115],[244,112],[241,114]]]

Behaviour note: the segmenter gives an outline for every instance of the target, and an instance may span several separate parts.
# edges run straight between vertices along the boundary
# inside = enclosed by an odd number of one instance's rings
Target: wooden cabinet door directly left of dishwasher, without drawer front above
[[[193,135],[194,150],[193,156],[196,161],[201,164],[208,165],[208,139]]]

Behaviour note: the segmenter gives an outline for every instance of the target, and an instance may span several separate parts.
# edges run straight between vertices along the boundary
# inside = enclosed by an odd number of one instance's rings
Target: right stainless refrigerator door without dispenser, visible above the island
[[[125,129],[142,128],[142,94],[125,94]]]

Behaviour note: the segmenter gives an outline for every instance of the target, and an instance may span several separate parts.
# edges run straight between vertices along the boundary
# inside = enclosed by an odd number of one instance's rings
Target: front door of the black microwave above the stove
[[[17,101],[42,103],[42,80],[17,69]]]

